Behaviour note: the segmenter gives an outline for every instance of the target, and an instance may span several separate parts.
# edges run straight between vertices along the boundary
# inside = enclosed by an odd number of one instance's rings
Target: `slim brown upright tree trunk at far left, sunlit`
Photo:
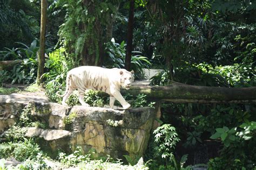
[[[44,74],[46,10],[47,10],[47,1],[42,0],[41,1],[41,29],[40,29],[40,47],[39,47],[39,55],[38,55],[37,84],[41,84],[43,82],[42,75]]]

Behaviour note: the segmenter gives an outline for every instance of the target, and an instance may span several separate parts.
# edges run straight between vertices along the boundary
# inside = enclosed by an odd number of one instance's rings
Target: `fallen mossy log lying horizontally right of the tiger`
[[[131,86],[130,90],[123,90],[122,93],[134,96],[143,93],[151,100],[173,103],[256,103],[256,87],[205,87],[173,83],[171,86]]]

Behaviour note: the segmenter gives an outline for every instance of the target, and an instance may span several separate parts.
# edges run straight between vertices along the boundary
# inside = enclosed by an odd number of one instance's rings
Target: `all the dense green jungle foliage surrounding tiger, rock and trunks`
[[[0,70],[1,94],[18,91],[2,88],[5,83],[35,82],[40,2],[0,0],[0,61],[21,60],[11,69]],[[43,86],[51,101],[60,103],[55,94],[59,90],[64,93],[65,76],[74,67],[124,68],[129,4],[122,0],[48,1]],[[152,77],[152,85],[165,86],[177,81],[234,90],[255,86],[255,15],[255,0],[136,0],[131,59],[136,78],[143,77],[143,68],[157,68],[162,70]],[[147,101],[144,94],[127,94],[125,99],[132,107],[154,107],[157,102]],[[109,103],[108,97],[95,91],[86,92],[84,100],[97,107]],[[68,104],[79,104],[76,92],[69,97]],[[161,126],[152,133],[145,154],[147,166],[152,169],[197,167],[194,165],[198,164],[197,154],[203,148],[209,151],[200,162],[204,165],[200,166],[255,168],[255,110],[255,104],[250,103],[162,103],[162,115],[157,120]],[[6,133],[10,143],[1,144],[0,156],[27,159],[28,169],[34,163],[46,168],[42,161],[46,156],[39,151],[36,141],[23,139],[22,129],[22,126],[44,128],[46,125],[32,120],[29,108],[21,115]],[[97,168],[116,166],[104,160],[90,160],[79,152],[60,153],[59,158],[66,165],[83,167],[90,162]],[[128,155],[126,159],[131,165],[138,161]]]

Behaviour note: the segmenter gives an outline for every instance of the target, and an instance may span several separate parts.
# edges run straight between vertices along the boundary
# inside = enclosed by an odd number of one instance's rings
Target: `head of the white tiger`
[[[122,89],[130,89],[131,83],[134,81],[134,72],[133,70],[131,72],[128,72],[127,70],[120,70],[120,86]]]

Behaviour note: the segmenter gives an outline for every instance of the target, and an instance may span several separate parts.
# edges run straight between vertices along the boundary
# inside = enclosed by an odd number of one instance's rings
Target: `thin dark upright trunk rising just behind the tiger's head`
[[[128,21],[128,29],[127,29],[127,48],[125,55],[125,69],[131,69],[131,56],[132,56],[132,38],[133,38],[133,18],[134,18],[134,0],[130,1],[130,9],[129,9],[129,21]]]

